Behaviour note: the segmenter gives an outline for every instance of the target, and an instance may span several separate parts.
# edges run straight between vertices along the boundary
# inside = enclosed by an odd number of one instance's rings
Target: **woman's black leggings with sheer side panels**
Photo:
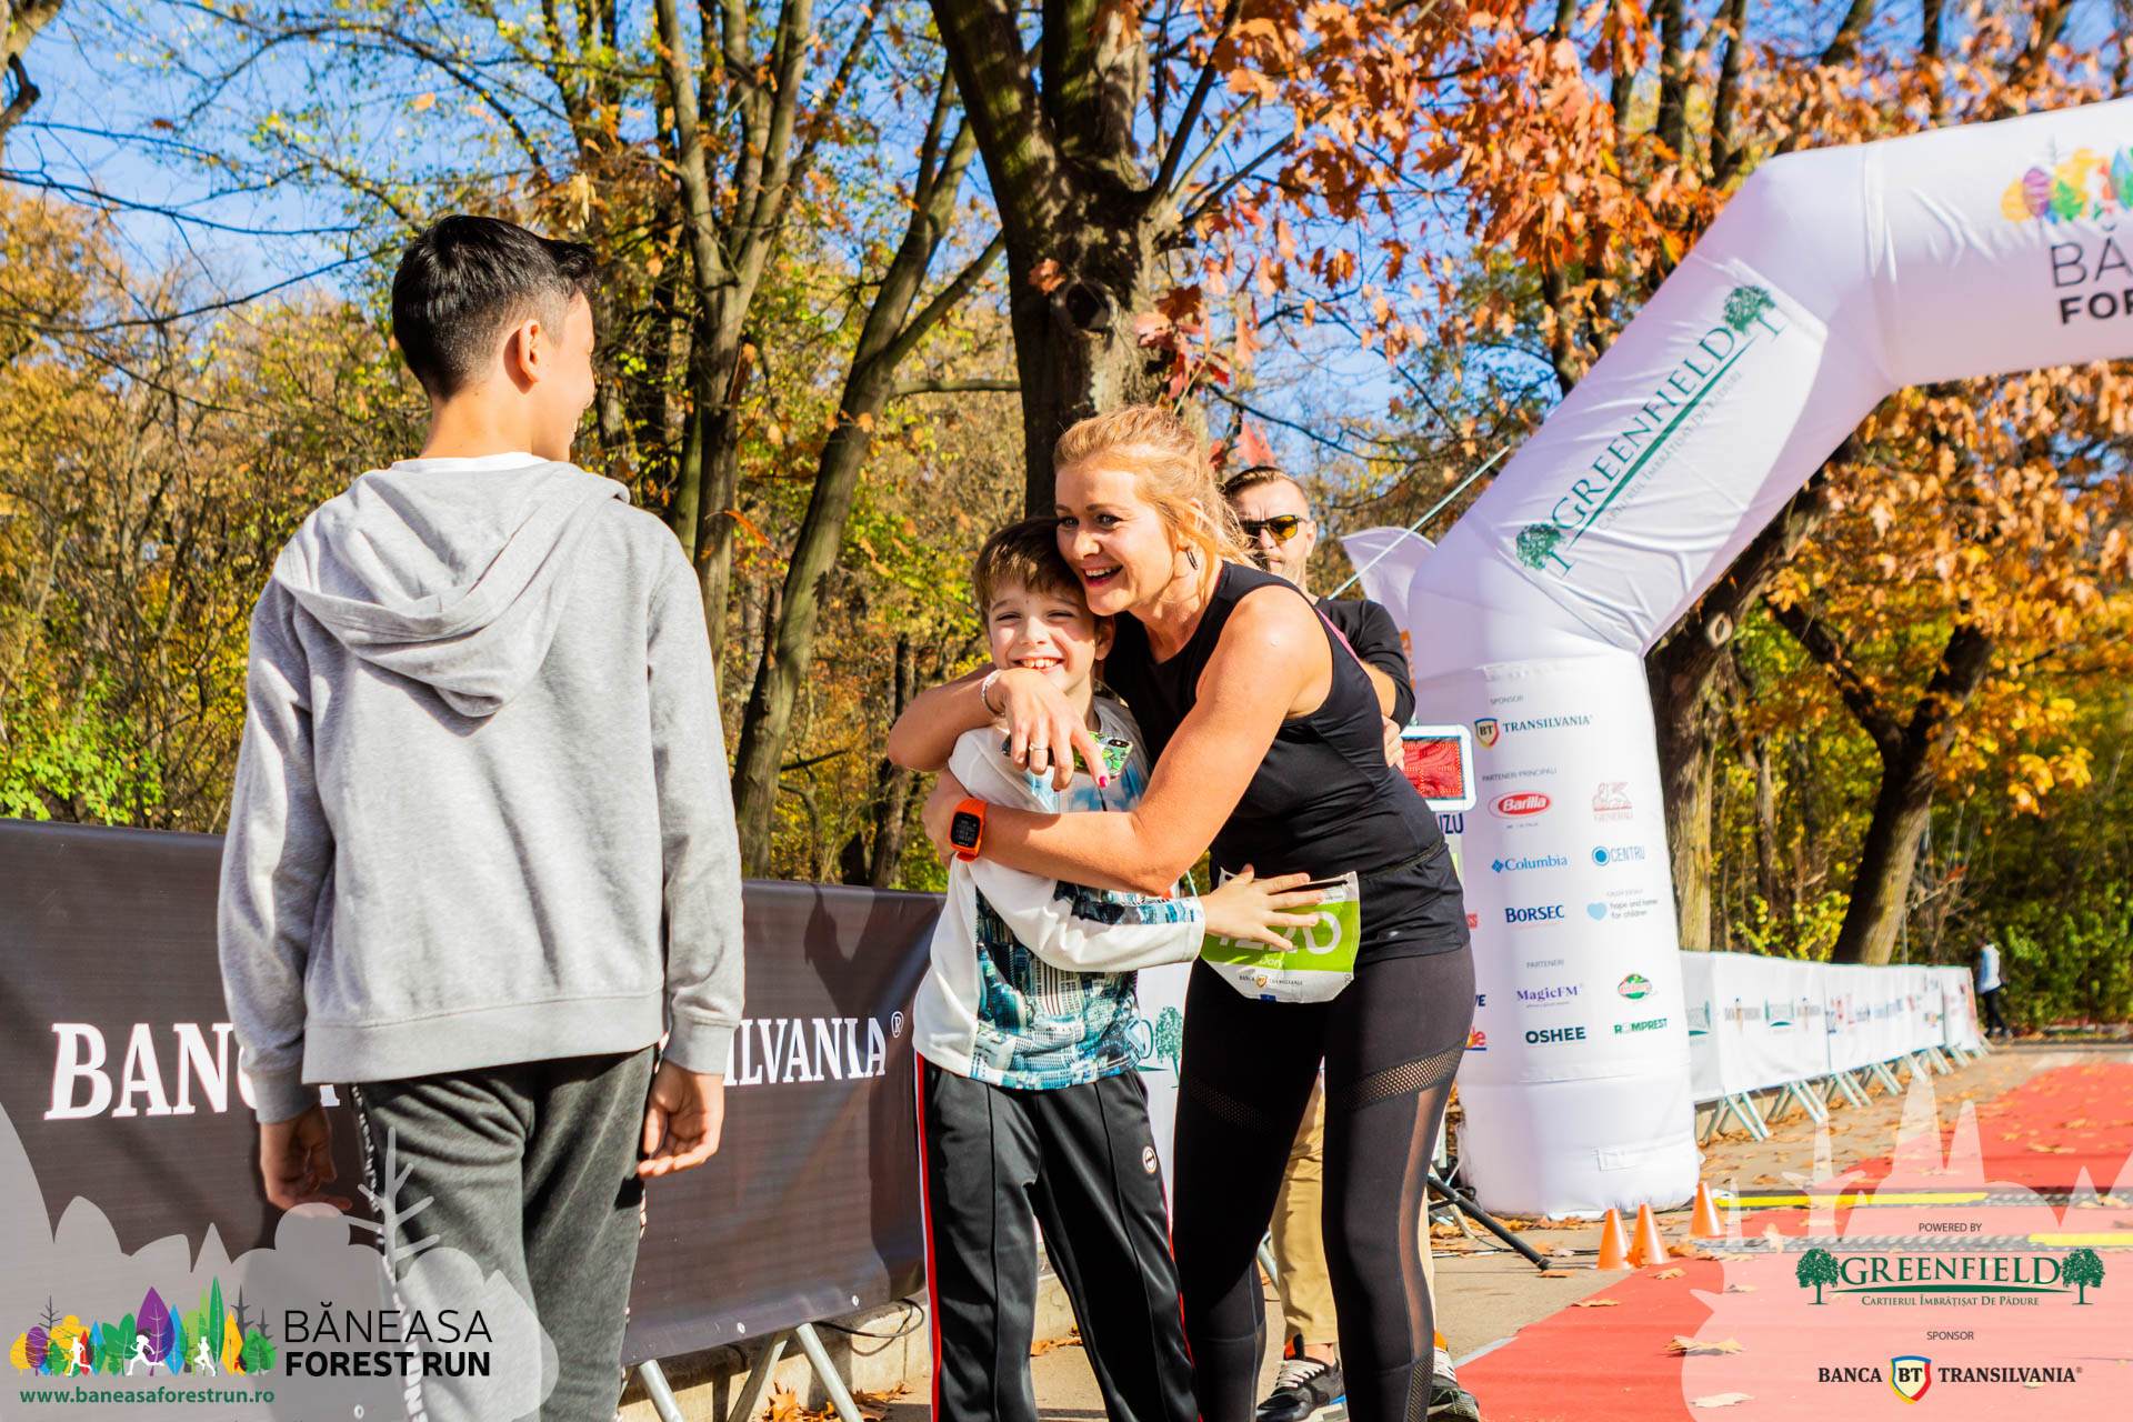
[[[1205,1422],[1252,1422],[1258,1239],[1327,1068],[1325,1243],[1348,1416],[1418,1422],[1436,1322],[1423,1209],[1438,1117],[1474,1019],[1468,949],[1365,964],[1331,1002],[1254,1002],[1207,964],[1186,989],[1177,1281]]]

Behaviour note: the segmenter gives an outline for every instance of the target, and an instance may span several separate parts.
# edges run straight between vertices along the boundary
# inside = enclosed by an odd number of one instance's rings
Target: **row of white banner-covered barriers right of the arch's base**
[[[1709,1130],[1732,1115],[1755,1138],[1768,1124],[1755,1092],[1777,1092],[1828,1119],[1830,1094],[1864,1104],[1898,1087],[1894,1068],[1950,1070],[1984,1051],[1964,968],[1862,968],[1751,953],[1683,953],[1689,1087],[1717,1102]]]

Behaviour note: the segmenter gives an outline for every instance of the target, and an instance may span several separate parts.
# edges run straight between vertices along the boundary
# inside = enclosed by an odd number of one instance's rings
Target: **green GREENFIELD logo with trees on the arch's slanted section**
[[[1681,356],[1598,458],[1572,480],[1549,510],[1546,522],[1519,529],[1512,554],[1536,573],[1568,578],[1572,552],[1595,527],[1613,522],[1610,510],[1672,443],[1696,407],[1719,388],[1726,373],[1760,341],[1781,337],[1773,320],[1777,301],[1760,286],[1736,286],[1726,294],[1719,324]]]

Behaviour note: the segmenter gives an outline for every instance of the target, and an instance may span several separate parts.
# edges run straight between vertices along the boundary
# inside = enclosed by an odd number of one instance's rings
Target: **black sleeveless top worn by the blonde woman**
[[[1199,701],[1201,674],[1229,614],[1246,593],[1265,586],[1303,597],[1273,573],[1224,563],[1192,637],[1160,663],[1139,618],[1118,618],[1103,680],[1133,710],[1150,761],[1162,757]],[[1261,878],[1299,870],[1331,878],[1354,870],[1363,891],[1357,962],[1463,949],[1465,904],[1438,817],[1406,776],[1384,763],[1378,691],[1333,629],[1322,618],[1318,625],[1333,652],[1333,686],[1318,710],[1282,723],[1244,799],[1214,838],[1214,863],[1226,872],[1250,863]]]

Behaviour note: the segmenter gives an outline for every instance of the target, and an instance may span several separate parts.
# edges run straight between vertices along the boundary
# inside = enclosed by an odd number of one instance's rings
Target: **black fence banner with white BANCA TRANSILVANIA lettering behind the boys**
[[[49,1222],[122,1251],[273,1243],[215,964],[211,836],[0,821],[0,1106]],[[902,1298],[924,1277],[911,993],[941,900],[749,883],[747,1011],[719,1153],[657,1179],[625,1360]],[[343,1192],[356,1130],[335,1113]],[[6,1200],[11,1213],[30,1200]]]

